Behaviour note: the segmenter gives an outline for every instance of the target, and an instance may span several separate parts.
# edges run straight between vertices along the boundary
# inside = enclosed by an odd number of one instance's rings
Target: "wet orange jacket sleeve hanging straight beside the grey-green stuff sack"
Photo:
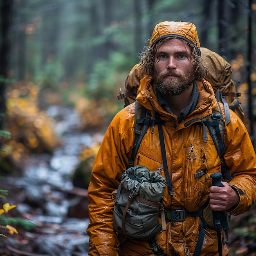
[[[131,111],[130,111],[131,110]],[[89,255],[116,255],[117,234],[113,230],[114,202],[110,196],[120,184],[133,146],[134,108],[121,110],[112,120],[94,161],[88,187]],[[133,123],[132,123],[133,121]]]

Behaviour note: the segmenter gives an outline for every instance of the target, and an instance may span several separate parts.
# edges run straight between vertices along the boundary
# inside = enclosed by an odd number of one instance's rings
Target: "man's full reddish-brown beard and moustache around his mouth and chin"
[[[176,76],[177,78],[167,79],[166,76]],[[171,95],[177,96],[182,92],[189,89],[189,87],[193,84],[195,78],[194,70],[188,72],[188,74],[181,75],[175,71],[170,71],[166,73],[162,73],[159,75],[154,74],[153,79],[155,80],[155,85],[162,95]]]

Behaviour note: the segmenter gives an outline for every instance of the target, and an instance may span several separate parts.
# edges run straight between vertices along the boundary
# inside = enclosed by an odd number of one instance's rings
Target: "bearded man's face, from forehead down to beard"
[[[194,74],[191,49],[182,40],[166,40],[157,49],[153,79],[162,95],[174,96],[186,91],[193,84]]]

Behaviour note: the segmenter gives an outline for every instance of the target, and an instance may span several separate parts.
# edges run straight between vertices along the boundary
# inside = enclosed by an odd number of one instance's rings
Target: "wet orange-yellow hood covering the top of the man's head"
[[[190,43],[195,47],[198,55],[200,55],[200,42],[196,27],[190,22],[164,21],[158,23],[153,30],[148,47],[153,46],[160,39],[170,36],[181,38]]]

